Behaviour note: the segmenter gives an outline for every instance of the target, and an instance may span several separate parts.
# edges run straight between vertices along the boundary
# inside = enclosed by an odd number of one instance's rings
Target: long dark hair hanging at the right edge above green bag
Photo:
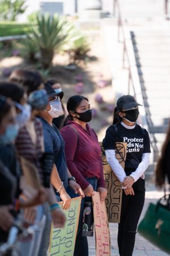
[[[159,188],[162,188],[165,182],[164,156],[165,156],[165,151],[167,150],[167,146],[169,142],[170,142],[170,123],[167,131],[167,136],[163,143],[162,152],[161,152],[160,158],[158,159],[158,163],[156,165],[156,170],[155,170],[155,175],[156,175],[155,183],[156,183],[156,186]]]

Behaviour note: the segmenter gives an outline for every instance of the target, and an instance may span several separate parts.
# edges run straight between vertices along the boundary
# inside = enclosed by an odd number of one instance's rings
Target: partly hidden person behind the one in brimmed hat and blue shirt
[[[56,79],[49,79],[46,82],[48,82],[52,86],[52,88],[55,90],[55,92],[59,96],[60,100],[62,100],[63,91],[62,91],[62,88],[61,88],[61,84],[59,84],[59,82]],[[64,122],[65,117],[67,115],[67,110],[65,109],[65,106],[63,105],[62,101],[61,101],[61,106],[62,106],[61,114],[59,115],[59,117],[53,118],[53,123],[57,127],[57,129],[59,129],[59,130],[63,127],[63,122]]]

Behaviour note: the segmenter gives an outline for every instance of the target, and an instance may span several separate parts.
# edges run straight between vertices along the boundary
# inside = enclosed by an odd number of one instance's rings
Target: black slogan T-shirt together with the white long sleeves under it
[[[141,134],[141,127],[138,125],[128,126],[124,122],[121,122],[117,125],[118,132],[113,126],[110,126],[107,129],[105,139],[103,141],[103,146],[105,148],[105,154],[107,161],[111,166],[113,172],[116,174],[120,182],[122,183],[126,177],[126,173],[122,168],[121,164],[116,159],[115,154],[115,143],[117,140],[127,143],[127,154],[126,157],[126,168],[131,168],[132,173],[130,174],[133,177],[134,181],[137,181],[139,177],[145,179],[144,172],[146,171],[149,162],[150,162],[150,139],[147,131],[145,134]],[[120,137],[116,140],[117,137]],[[136,154],[137,152],[137,154]],[[141,156],[140,156],[141,152]],[[143,152],[143,153],[142,153]],[[139,158],[141,157],[142,160]],[[138,162],[138,164],[137,164]]]

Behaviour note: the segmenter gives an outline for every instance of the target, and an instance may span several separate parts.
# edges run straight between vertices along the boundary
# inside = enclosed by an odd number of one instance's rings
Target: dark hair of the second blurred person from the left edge
[[[24,89],[11,82],[0,82],[0,94],[20,103],[24,96]]]

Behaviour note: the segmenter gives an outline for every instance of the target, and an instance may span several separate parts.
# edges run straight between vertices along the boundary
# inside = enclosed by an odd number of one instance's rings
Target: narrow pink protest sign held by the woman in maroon
[[[100,193],[92,196],[96,236],[96,256],[111,255],[111,240],[105,204],[100,203]]]

